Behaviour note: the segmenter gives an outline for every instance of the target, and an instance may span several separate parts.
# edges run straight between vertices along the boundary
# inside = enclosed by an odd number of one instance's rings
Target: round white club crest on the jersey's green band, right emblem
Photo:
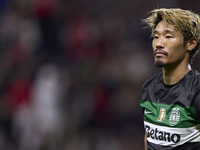
[[[179,112],[179,108],[175,107],[172,109],[172,112],[170,113],[169,116],[169,123],[171,126],[174,126],[178,123],[180,119],[180,112]]]

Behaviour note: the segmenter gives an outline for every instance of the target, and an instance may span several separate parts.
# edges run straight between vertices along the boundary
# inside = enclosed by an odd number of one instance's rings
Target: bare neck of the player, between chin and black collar
[[[163,81],[167,85],[176,84],[191,70],[190,64],[183,67],[164,67]]]

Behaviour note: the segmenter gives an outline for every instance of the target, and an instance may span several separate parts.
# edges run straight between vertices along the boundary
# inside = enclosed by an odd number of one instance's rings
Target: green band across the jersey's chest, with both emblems
[[[193,107],[173,104],[165,105],[149,101],[140,101],[144,109],[144,121],[160,126],[187,128],[200,123]]]

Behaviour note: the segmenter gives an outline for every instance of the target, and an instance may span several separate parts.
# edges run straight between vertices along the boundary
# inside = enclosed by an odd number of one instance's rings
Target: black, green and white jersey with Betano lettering
[[[141,89],[148,150],[200,150],[200,74],[190,70],[173,85],[162,73]]]

